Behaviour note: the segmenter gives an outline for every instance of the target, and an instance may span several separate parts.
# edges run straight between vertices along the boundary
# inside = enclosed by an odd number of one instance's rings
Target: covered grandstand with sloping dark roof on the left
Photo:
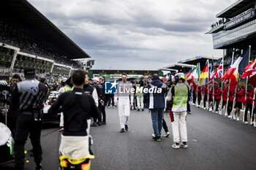
[[[42,77],[68,77],[90,58],[26,0],[0,1],[0,75],[36,69]]]

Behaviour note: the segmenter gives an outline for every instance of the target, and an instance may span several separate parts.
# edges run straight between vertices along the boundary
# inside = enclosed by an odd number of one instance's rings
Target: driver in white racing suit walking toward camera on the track
[[[121,131],[124,133],[124,128],[128,131],[129,124],[129,112],[130,108],[133,106],[133,93],[132,93],[132,83],[127,82],[127,74],[121,74],[121,82],[118,82],[118,94],[115,97],[115,107],[118,106],[118,115],[120,121]],[[129,96],[131,101],[129,101]]]

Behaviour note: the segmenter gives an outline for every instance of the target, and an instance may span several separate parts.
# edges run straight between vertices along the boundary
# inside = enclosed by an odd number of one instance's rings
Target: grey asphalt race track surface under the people
[[[256,169],[256,128],[241,121],[192,107],[192,115],[187,117],[189,148],[175,150],[171,147],[173,137],[168,115],[165,114],[165,120],[170,137],[153,142],[151,115],[147,109],[131,112],[129,131],[124,134],[119,133],[118,109],[106,108],[106,113],[106,125],[91,127],[92,150],[96,156],[91,161],[91,169]],[[59,166],[61,133],[58,128],[58,123],[43,125],[42,165],[47,170]],[[26,150],[30,149],[28,140]],[[29,163],[25,169],[34,169],[33,158],[29,154],[26,157]],[[13,163],[0,169],[14,169]]]

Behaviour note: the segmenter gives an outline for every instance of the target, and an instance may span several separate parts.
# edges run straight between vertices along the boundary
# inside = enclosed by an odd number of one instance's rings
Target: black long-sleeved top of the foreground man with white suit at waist
[[[87,119],[99,117],[94,98],[80,88],[62,93],[48,110],[49,114],[59,112],[64,115],[64,136],[87,136]]]

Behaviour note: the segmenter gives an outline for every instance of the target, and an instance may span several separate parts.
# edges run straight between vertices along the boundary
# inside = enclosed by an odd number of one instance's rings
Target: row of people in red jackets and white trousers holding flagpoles
[[[253,125],[252,105],[255,100],[255,92],[251,84],[247,85],[247,89],[241,83],[237,85],[237,88],[230,88],[226,84],[222,88],[218,82],[214,81],[202,86],[194,83],[191,87],[193,93],[192,104],[196,107],[208,109],[211,112],[219,113],[219,115],[224,114],[237,121],[241,120],[241,109],[244,108],[244,124],[249,124],[247,115],[250,112],[250,125]]]

